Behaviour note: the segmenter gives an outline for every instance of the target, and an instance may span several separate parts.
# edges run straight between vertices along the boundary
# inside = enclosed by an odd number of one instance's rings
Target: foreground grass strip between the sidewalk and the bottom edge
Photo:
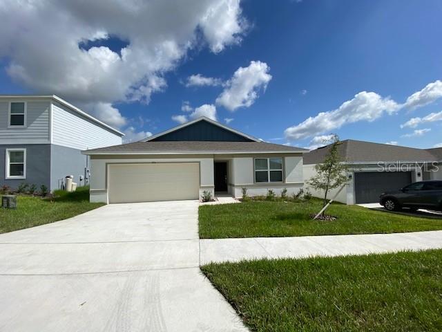
[[[201,269],[252,331],[442,331],[442,250]]]

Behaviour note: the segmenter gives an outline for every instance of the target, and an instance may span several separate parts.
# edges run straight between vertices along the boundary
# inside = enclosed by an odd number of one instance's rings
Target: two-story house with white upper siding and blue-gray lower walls
[[[56,95],[0,95],[0,185],[59,189],[67,175],[85,185],[81,150],[122,143],[123,133]]]

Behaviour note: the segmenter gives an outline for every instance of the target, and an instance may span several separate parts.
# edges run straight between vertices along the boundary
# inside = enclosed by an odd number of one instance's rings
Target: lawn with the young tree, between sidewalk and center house
[[[317,199],[295,203],[250,201],[200,207],[200,237],[298,237],[325,234],[370,234],[441,230],[442,219],[405,216],[334,203],[327,214],[336,221],[314,221],[322,207]]]

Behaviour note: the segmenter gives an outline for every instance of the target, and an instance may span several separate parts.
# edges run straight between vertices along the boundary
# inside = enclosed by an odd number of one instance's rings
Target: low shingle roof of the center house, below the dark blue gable
[[[302,153],[306,149],[266,142],[153,141],[83,151],[84,154],[265,154]]]

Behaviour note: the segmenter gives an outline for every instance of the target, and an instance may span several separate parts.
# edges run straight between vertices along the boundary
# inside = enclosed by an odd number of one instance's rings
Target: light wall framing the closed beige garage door
[[[200,163],[200,195],[204,190],[214,196],[213,156],[91,156],[90,201],[108,203],[107,165],[110,163]]]

